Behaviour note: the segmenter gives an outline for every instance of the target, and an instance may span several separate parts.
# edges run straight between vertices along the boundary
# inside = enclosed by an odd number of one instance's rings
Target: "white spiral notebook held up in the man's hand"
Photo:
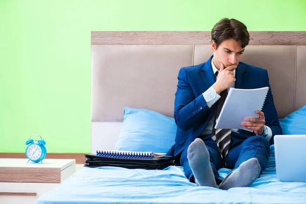
[[[257,110],[262,110],[268,94],[269,87],[258,89],[236,89],[228,91],[219,118],[216,120],[215,129],[245,129],[241,123],[244,118],[256,118]]]

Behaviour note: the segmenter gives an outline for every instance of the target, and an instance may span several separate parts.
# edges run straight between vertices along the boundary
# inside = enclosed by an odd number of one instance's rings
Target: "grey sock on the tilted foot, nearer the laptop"
[[[260,164],[258,160],[251,158],[229,173],[219,185],[219,189],[228,190],[235,187],[247,187],[258,178],[259,173]]]

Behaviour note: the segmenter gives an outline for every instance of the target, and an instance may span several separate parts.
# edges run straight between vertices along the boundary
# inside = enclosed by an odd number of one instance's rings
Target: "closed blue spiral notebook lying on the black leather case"
[[[165,157],[166,153],[154,153],[145,151],[119,151],[119,150],[97,150],[97,156],[133,159],[154,159]]]

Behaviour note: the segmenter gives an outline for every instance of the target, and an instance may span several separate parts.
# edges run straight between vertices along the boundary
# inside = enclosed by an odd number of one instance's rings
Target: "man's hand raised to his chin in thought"
[[[224,65],[221,63],[217,81],[215,84],[213,84],[217,94],[220,95],[223,90],[227,89],[232,83],[236,82],[236,78],[234,76],[234,69],[236,68],[236,65],[231,65],[224,69]]]

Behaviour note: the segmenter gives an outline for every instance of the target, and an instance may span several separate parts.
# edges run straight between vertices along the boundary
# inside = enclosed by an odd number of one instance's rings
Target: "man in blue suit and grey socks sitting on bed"
[[[198,186],[220,189],[246,187],[265,169],[269,144],[282,134],[269,88],[258,118],[241,125],[253,132],[214,129],[230,88],[270,87],[265,69],[240,61],[249,42],[246,26],[223,18],[211,32],[213,56],[206,62],[181,68],[177,77],[174,119],[177,124],[174,156],[180,158],[186,176]],[[243,98],[242,98],[243,100]],[[233,169],[224,179],[220,168]]]

